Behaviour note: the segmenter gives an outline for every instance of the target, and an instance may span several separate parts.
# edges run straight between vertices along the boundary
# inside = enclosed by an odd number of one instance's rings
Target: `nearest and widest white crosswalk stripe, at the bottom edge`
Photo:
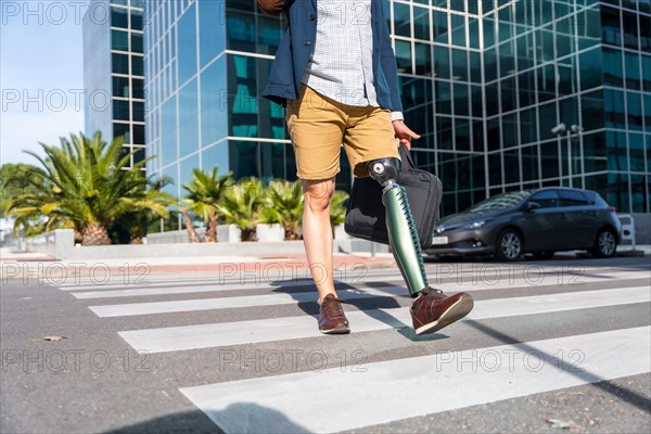
[[[644,327],[381,361],[363,372],[333,368],[181,392],[226,432],[263,433],[273,426],[282,433],[330,433],[648,372],[650,343],[651,329]],[[577,372],[559,369],[553,355],[576,348],[583,357]],[[457,360],[473,358],[489,365],[459,368]]]

